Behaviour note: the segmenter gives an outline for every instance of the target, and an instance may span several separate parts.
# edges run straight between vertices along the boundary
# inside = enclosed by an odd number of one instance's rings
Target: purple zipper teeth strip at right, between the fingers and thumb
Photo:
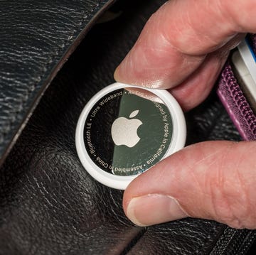
[[[230,91],[230,95],[233,98],[233,102],[238,106],[240,114],[245,118],[247,122],[247,126],[251,129],[252,134],[256,134],[256,117],[255,114],[252,112],[250,105],[248,104],[247,100],[245,99],[244,94],[242,93],[237,80],[233,75],[233,71],[228,65],[225,68],[225,80],[227,82],[228,90]]]

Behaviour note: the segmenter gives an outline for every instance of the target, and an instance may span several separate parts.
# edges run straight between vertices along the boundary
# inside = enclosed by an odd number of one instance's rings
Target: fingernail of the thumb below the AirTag
[[[134,197],[127,207],[127,217],[138,226],[146,227],[188,217],[170,196],[150,194]]]

